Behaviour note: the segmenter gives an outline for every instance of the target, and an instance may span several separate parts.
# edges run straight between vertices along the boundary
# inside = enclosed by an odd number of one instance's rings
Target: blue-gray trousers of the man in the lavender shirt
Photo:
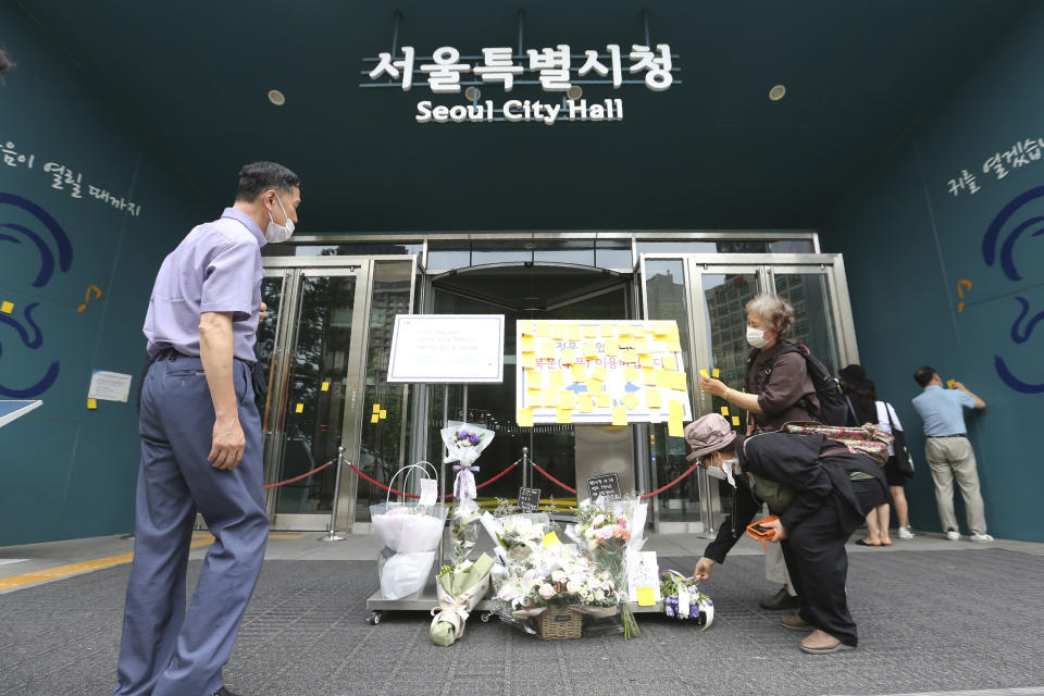
[[[261,419],[249,366],[233,363],[243,461],[214,469],[214,408],[199,358],[152,364],[141,387],[141,465],[134,562],[127,583],[114,696],[210,696],[223,685],[264,558]],[[214,535],[186,606],[188,545],[197,510]]]

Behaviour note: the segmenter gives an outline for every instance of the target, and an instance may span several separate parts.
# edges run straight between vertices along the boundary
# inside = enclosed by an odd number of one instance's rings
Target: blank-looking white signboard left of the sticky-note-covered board
[[[398,314],[388,382],[504,382],[504,314]]]

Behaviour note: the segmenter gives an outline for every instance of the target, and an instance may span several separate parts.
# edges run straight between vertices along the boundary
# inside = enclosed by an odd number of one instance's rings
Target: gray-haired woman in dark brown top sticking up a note
[[[819,410],[816,387],[797,352],[784,352],[790,344],[785,336],[794,326],[794,308],[774,295],[758,295],[746,306],[747,377],[744,390],[736,390],[720,380],[700,377],[699,388],[747,412],[747,435],[774,432],[785,423],[815,421]],[[782,353],[782,355],[781,355]],[[774,595],[759,602],[763,609],[796,609],[800,598],[791,582],[788,569],[779,549],[765,558],[766,579],[782,583]]]

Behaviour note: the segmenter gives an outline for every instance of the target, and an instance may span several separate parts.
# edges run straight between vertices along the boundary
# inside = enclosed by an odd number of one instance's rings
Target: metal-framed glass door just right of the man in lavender
[[[264,426],[265,483],[287,481],[336,460],[356,460],[361,420],[370,262],[272,268],[262,299],[258,358],[268,375],[259,399]],[[330,523],[336,467],[266,492],[274,529],[324,530]],[[344,480],[344,472],[343,472]]]

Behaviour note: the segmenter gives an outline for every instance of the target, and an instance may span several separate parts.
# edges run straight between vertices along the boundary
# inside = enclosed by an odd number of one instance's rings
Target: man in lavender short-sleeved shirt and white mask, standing
[[[269,520],[253,352],[261,247],[294,232],[300,179],[274,162],[239,172],[219,220],[166,257],[145,320],[134,563],[113,696],[235,696],[225,688],[261,572]],[[197,511],[214,535],[186,608]]]

